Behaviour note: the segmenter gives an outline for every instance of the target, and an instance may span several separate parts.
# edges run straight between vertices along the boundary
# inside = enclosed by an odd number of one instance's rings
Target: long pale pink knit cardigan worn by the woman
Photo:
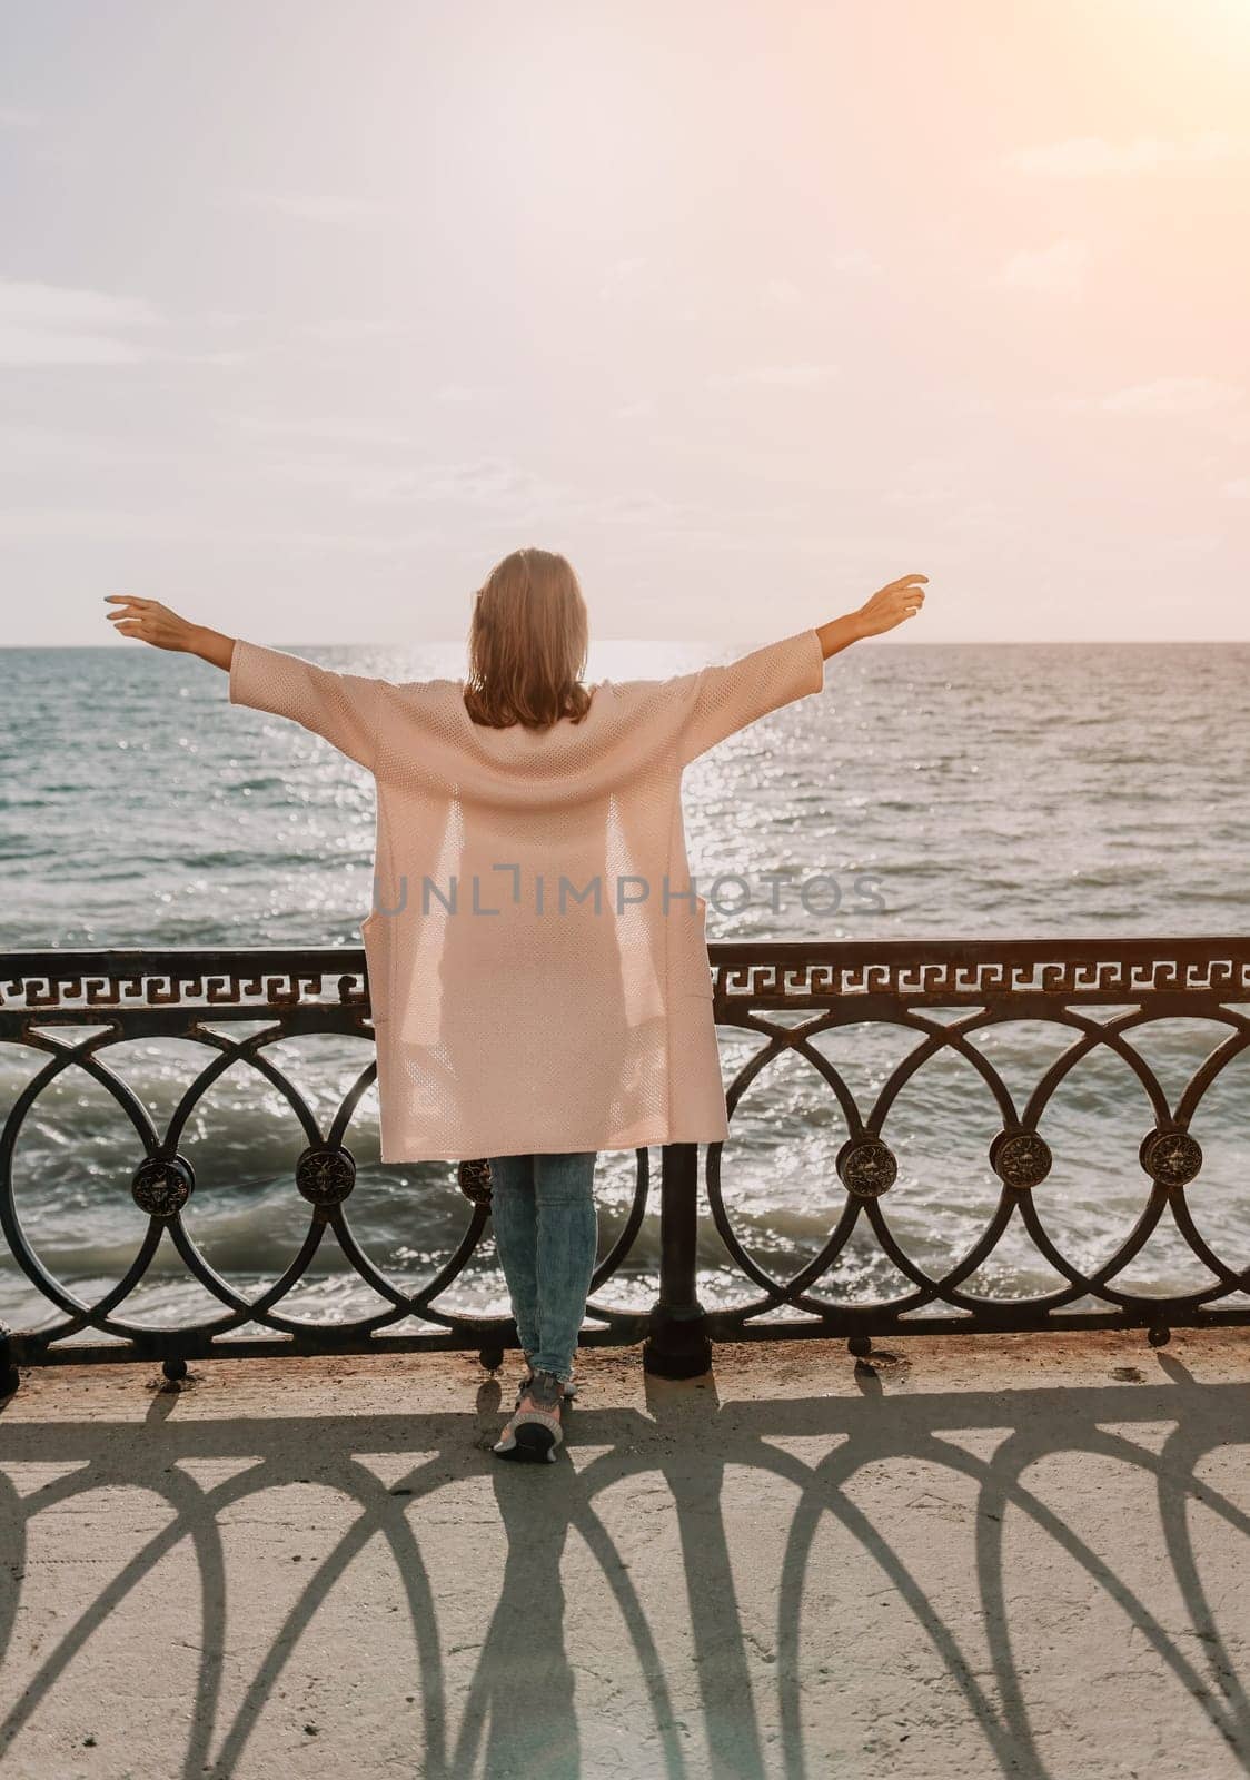
[[[588,716],[472,723],[459,680],[394,684],[239,641],[230,701],[290,717],[376,785],[360,924],[381,1161],[723,1139],[705,901],[682,769],[824,685],[816,630]]]

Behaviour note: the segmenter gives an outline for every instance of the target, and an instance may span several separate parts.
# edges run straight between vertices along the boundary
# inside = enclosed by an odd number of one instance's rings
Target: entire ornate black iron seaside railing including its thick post
[[[650,1168],[648,1153],[639,1150],[632,1205],[591,1283],[588,1319],[593,1326],[582,1331],[584,1344],[643,1340],[650,1371],[691,1376],[707,1369],[718,1340],[833,1335],[862,1355],[873,1337],[917,1331],[1145,1328],[1157,1344],[1172,1326],[1250,1323],[1250,1269],[1214,1251],[1197,1228],[1186,1198],[1202,1168],[1191,1125],[1204,1095],[1250,1045],[1250,938],[748,942],[712,943],[710,963],[718,1025],[737,1029],[750,1047],[726,1086],[730,1120],[760,1072],[785,1052],[803,1059],[830,1091],[837,1132],[846,1134],[835,1162],[840,1205],[833,1228],[821,1251],[792,1276],[773,1276],[734,1230],[723,1146],[709,1145],[703,1153],[707,1214],[757,1296],[705,1310],[698,1292],[700,1150],[671,1145],[662,1150],[661,1168],[659,1296],[646,1312],[598,1303],[595,1294],[630,1255],[646,1216]],[[1179,1098],[1170,1102],[1134,1036],[1150,1022],[1175,1018],[1211,1022],[1222,1036]],[[235,1020],[258,1029],[233,1036],[230,1022]],[[1015,1020],[1051,1022],[1070,1034],[1022,1104],[972,1041],[974,1034]],[[873,1093],[871,1105],[860,1105],[842,1072],[816,1043],[824,1032],[860,1024],[915,1034],[903,1061]],[[516,1344],[511,1319],[474,1317],[438,1305],[483,1237],[488,1203],[465,1205],[459,1242],[418,1290],[402,1290],[356,1241],[349,1218],[356,1177],[349,1137],[356,1107],[374,1080],[374,1064],[360,1072],[322,1123],[269,1056],[278,1041],[306,1032],[372,1038],[363,951],[0,956],[0,1045],[25,1047],[37,1057],[34,1073],[5,1109],[0,1130],[0,1226],[9,1266],[25,1274],[53,1314],[53,1321],[37,1328],[0,1330],[0,1387],[16,1387],[18,1365],[53,1360],[158,1358],[166,1374],[176,1378],[189,1360],[219,1353],[468,1347],[493,1367],[504,1347]],[[191,1040],[207,1054],[203,1070],[162,1129],[109,1068],[109,1047],[135,1038]],[[1036,1189],[1052,1166],[1038,1125],[1059,1084],[1097,1047],[1108,1047],[1132,1072],[1150,1120],[1136,1157],[1108,1157],[1116,1169],[1141,1171],[1143,1205],[1136,1223],[1111,1257],[1084,1271],[1059,1250],[1036,1203]],[[938,1054],[956,1054],[969,1063],[995,1107],[999,1129],[988,1146],[988,1164],[997,1180],[997,1205],[953,1266],[926,1269],[890,1225],[889,1191],[897,1161],[885,1130],[905,1084]],[[194,1191],[194,1171],[180,1148],[187,1121],[210,1084],[237,1061],[280,1089],[304,1134],[292,1189],[306,1202],[306,1230],[281,1276],[251,1298],[208,1264],[183,1221]],[[45,1267],[23,1232],[14,1193],[14,1152],[23,1123],[39,1095],[69,1070],[85,1072],[126,1114],[135,1143],[130,1193],[148,1218],[130,1266],[93,1303],[82,1301]],[[1022,1221],[1061,1283],[1033,1296],[967,1290],[965,1282],[994,1255],[1013,1219]],[[1120,1283],[1122,1276],[1165,1219],[1209,1280],[1200,1289],[1170,1296],[1132,1290]],[[817,1283],[846,1251],[860,1223],[869,1226],[906,1289],[873,1303],[821,1296]],[[125,1299],[144,1280],[166,1234],[189,1274],[221,1305],[219,1315],[194,1326],[153,1328],[123,1314]],[[349,1323],[310,1323],[283,1312],[283,1299],[306,1274],[328,1235],[383,1299],[383,1310]],[[411,1317],[431,1330],[388,1333]],[[233,1333],[240,1328],[265,1333]],[[105,1339],[84,1340],[89,1331]]]

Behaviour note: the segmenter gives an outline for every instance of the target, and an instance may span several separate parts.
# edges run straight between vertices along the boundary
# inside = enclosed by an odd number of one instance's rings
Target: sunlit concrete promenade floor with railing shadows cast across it
[[[1250,1333],[23,1372],[0,1776],[1250,1771]],[[502,1394],[500,1394],[502,1385]]]

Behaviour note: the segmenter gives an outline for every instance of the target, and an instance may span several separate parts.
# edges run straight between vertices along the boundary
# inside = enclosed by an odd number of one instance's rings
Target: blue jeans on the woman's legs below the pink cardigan
[[[491,1155],[495,1248],[536,1372],[570,1380],[595,1255],[597,1150]]]

